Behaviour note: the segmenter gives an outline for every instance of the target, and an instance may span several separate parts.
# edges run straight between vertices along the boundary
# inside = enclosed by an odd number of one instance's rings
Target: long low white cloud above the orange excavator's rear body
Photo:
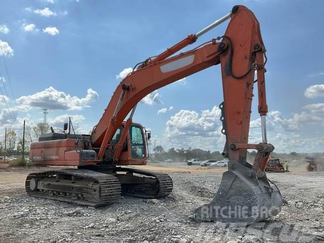
[[[78,98],[49,87],[33,95],[22,96],[16,101],[20,110],[30,110],[34,107],[49,110],[81,110],[89,107],[97,98],[98,93],[92,89],[88,89],[86,97]]]

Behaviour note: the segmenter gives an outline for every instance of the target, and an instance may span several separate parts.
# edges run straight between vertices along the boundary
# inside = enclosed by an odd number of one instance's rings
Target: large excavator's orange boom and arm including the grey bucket
[[[172,56],[229,18],[223,36]],[[113,154],[113,159],[118,160],[135,107],[146,95],[193,73],[221,64],[224,102],[220,108],[222,133],[226,136],[223,155],[229,158],[228,171],[223,175],[214,200],[196,209],[196,218],[250,224],[276,215],[281,210],[282,198],[278,188],[268,181],[264,172],[268,156],[274,149],[267,143],[266,136],[265,51],[258,20],[246,7],[235,6],[231,13],[212,25],[189,35],[156,58],[140,63],[139,68],[120,82],[92,133],[92,145],[100,147],[98,159],[112,159]],[[254,80],[255,70],[257,80]],[[248,143],[254,83],[257,83],[258,111],[262,123],[263,141],[259,144]],[[121,139],[113,148],[110,141],[130,112]],[[246,161],[247,149],[258,151],[253,165]]]

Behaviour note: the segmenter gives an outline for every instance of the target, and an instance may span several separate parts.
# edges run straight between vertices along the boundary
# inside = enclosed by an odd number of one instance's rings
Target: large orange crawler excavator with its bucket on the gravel
[[[224,35],[178,53],[228,19]],[[151,92],[220,64],[224,96],[219,106],[221,132],[226,137],[222,154],[229,159],[228,171],[223,174],[211,203],[195,209],[193,217],[200,221],[249,225],[277,215],[282,197],[265,173],[274,149],[267,141],[266,132],[266,61],[258,20],[245,6],[234,6],[227,15],[196,34],[136,64],[117,86],[91,135],[75,134],[70,120],[64,124],[63,134],[52,130],[32,143],[33,164],[74,168],[29,174],[25,182],[27,194],[92,207],[115,203],[121,194],[143,198],[168,196],[173,189],[169,175],[125,167],[146,165],[148,158],[151,134],[141,124],[133,123],[136,106]],[[255,83],[262,142],[250,144]],[[257,151],[253,164],[247,162],[247,149]]]

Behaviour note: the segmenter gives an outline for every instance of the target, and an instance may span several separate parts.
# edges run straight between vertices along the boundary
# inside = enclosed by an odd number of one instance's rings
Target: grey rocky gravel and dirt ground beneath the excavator
[[[268,173],[288,201],[279,215],[248,227],[189,216],[216,194],[225,168],[151,163],[174,190],[161,199],[123,196],[94,209],[29,197],[24,180],[47,168],[0,167],[0,242],[324,242],[324,173]],[[53,169],[53,168],[49,168]],[[292,168],[294,170],[294,168]]]

